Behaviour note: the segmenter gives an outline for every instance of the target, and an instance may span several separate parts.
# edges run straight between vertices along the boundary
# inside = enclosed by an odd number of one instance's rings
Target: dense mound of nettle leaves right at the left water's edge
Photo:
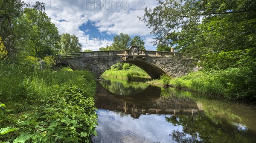
[[[89,142],[96,135],[96,107],[94,99],[83,95],[76,85],[56,85],[40,109],[32,140],[38,142]],[[25,122],[30,122],[26,118]],[[22,122],[20,122],[22,123]],[[23,123],[22,123],[23,124]]]

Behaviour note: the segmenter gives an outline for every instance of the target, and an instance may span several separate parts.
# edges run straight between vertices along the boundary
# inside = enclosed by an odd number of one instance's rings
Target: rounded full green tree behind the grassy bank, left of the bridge
[[[22,52],[37,57],[55,54],[60,48],[58,29],[45,12],[30,8],[25,8],[25,11],[13,24],[15,33],[22,37],[18,41]]]

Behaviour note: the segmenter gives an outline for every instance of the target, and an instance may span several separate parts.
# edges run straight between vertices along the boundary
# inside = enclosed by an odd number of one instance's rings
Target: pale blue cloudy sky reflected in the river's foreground
[[[104,109],[99,109],[97,114],[99,116],[99,126],[96,127],[98,137],[93,138],[94,142],[114,143],[118,137],[121,140],[130,139],[127,142],[130,143],[134,142],[131,138],[136,137],[137,141],[144,139],[144,142],[175,143],[172,140],[172,131],[182,131],[182,126],[173,126],[172,123],[166,122],[165,117],[171,117],[171,115],[146,114],[134,119],[130,115],[123,115],[122,112]],[[126,142],[125,140],[123,142]]]

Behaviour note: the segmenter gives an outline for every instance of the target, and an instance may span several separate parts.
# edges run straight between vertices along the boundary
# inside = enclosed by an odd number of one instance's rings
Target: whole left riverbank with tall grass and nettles
[[[0,63],[0,142],[90,142],[96,82],[89,71]]]

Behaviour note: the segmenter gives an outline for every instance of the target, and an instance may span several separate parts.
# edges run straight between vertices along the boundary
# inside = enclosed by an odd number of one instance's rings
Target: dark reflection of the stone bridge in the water
[[[190,98],[177,98],[174,95],[160,97],[160,89],[151,86],[137,95],[122,96],[115,95],[99,85],[96,106],[99,109],[130,114],[133,118],[139,118],[143,114],[195,115],[201,111],[197,103]]]

